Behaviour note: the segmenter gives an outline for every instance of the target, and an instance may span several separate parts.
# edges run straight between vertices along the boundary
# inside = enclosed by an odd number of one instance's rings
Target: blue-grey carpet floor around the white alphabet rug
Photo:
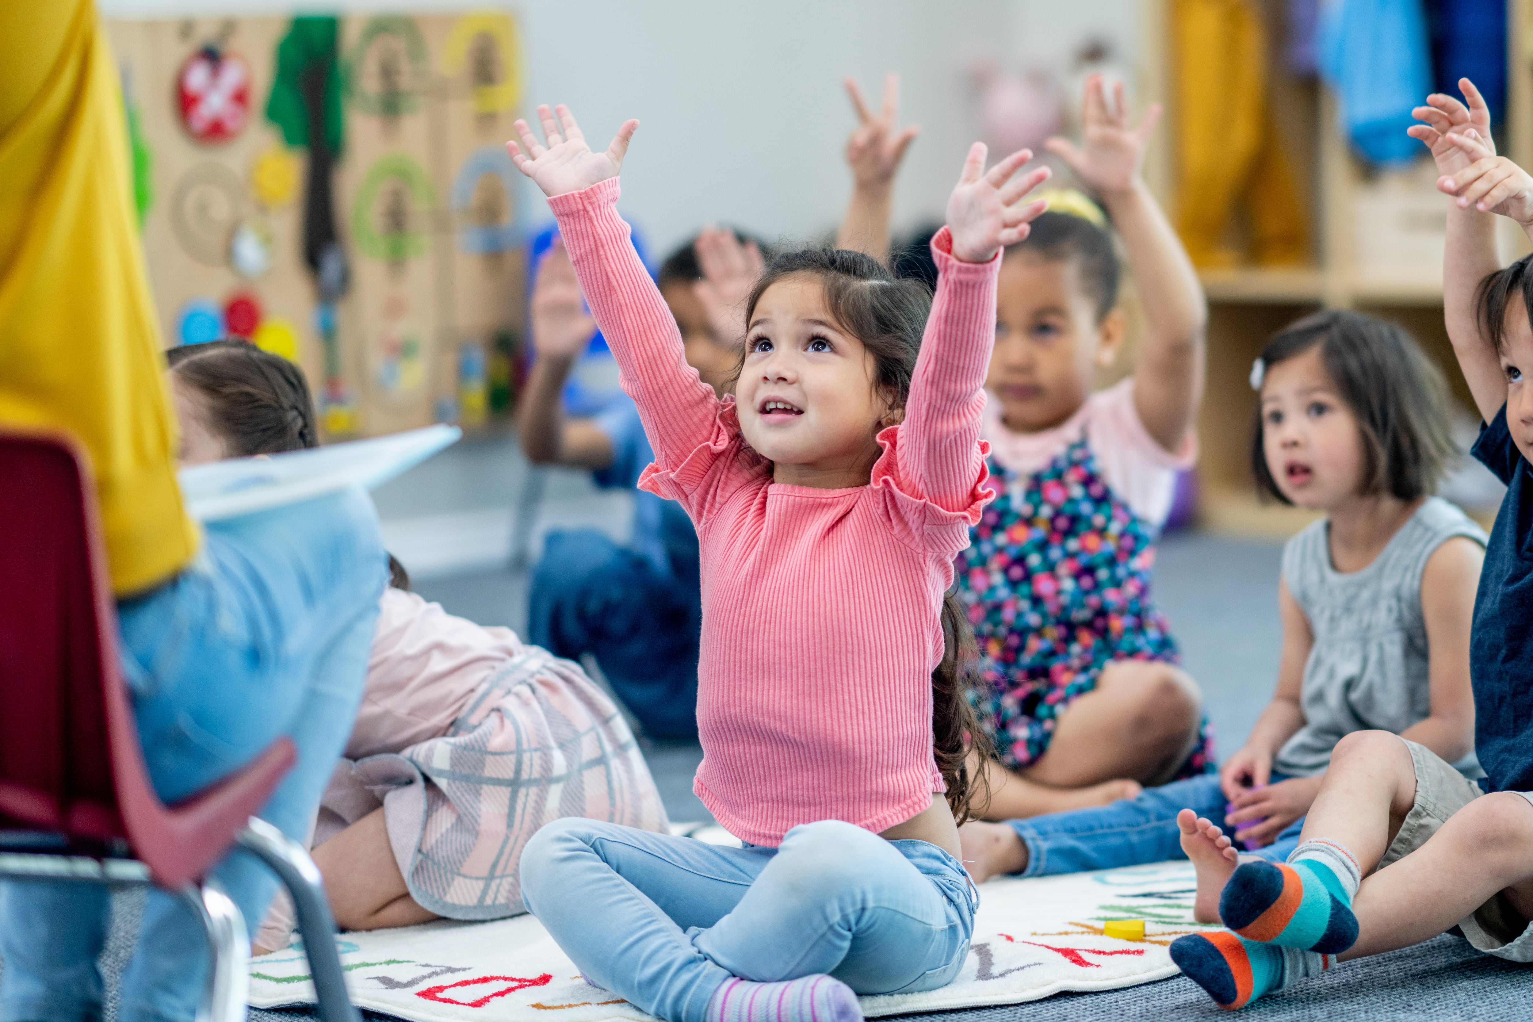
[[[1200,535],[1167,538],[1156,565],[1157,601],[1182,644],[1188,671],[1203,688],[1222,755],[1233,752],[1266,705],[1275,680],[1280,633],[1280,545]],[[489,572],[417,585],[428,599],[481,624],[518,621],[526,611],[520,573]],[[691,794],[701,749],[645,745],[650,768],[673,820],[707,820]],[[112,936],[101,967],[106,1017],[117,1017],[117,984],[132,952],[140,901],[115,899]],[[314,1017],[310,1011],[251,1011],[261,1022]],[[369,1016],[385,1019],[388,1016]],[[1059,994],[1032,1004],[923,1016],[932,1022],[1151,1022],[1229,1017],[1188,979],[1176,978],[1110,993]],[[1297,1022],[1315,1017],[1533,1019],[1533,968],[1476,953],[1441,936],[1413,948],[1341,965],[1245,1010],[1240,1017]]]

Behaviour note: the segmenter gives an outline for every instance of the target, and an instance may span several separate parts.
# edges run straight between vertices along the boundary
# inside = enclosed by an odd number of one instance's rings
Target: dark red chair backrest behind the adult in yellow
[[[126,838],[103,693],[117,614],[77,444],[0,432],[0,827]]]

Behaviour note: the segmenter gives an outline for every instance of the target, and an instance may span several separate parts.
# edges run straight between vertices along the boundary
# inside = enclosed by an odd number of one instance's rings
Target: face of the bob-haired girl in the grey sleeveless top
[[[1277,489],[1298,507],[1331,510],[1358,496],[1363,434],[1326,372],[1320,345],[1268,368],[1262,450]]]

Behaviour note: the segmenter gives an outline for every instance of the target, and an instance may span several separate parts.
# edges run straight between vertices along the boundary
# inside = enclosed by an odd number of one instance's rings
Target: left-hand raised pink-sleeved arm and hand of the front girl
[[[711,440],[717,397],[687,365],[676,319],[618,216],[618,172],[639,123],[624,121],[607,150],[595,153],[569,107],[540,106],[538,118],[547,146],[517,121],[518,139],[506,149],[549,196],[581,291],[618,360],[622,389],[639,406],[656,461],[675,466]]]

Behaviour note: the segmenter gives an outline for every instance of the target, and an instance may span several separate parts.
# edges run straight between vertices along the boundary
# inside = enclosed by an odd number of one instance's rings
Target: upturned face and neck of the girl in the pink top
[[[745,352],[734,388],[740,432],[774,463],[774,480],[865,486],[874,437],[898,415],[874,386],[872,352],[835,325],[820,280],[794,274],[766,288]]]

